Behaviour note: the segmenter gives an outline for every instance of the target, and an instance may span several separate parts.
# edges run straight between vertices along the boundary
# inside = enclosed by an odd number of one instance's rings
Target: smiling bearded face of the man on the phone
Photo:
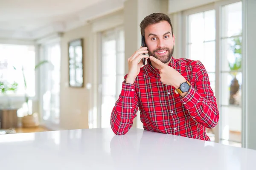
[[[148,55],[159,59],[163,63],[170,61],[175,37],[172,28],[167,21],[149,25],[145,28],[145,43],[148,47]]]

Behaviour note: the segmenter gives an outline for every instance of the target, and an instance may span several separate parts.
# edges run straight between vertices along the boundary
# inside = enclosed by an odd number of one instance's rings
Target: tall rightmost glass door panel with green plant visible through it
[[[221,143],[241,147],[242,3],[221,7]]]

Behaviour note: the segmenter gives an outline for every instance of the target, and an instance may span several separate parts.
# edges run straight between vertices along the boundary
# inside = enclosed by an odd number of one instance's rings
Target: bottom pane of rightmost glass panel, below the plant
[[[221,107],[221,138],[241,142],[241,108]]]

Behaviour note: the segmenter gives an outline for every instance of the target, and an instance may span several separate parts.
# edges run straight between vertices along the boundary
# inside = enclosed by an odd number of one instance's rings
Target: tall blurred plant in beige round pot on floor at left
[[[39,62],[37,65],[35,65],[35,70],[37,70],[41,65],[43,65],[45,63],[49,63],[49,62],[47,60]],[[13,68],[16,70],[15,67],[13,67]],[[24,68],[23,67],[22,67],[22,75],[23,75],[24,89],[25,89],[25,104],[26,104],[26,107],[29,109],[29,96],[26,93],[27,84],[26,84],[26,77],[25,77],[25,74],[24,74]],[[21,122],[22,122],[23,127],[36,127],[36,126],[38,126],[39,125],[38,113],[31,113],[30,114],[29,111],[28,111],[27,114],[22,117]]]

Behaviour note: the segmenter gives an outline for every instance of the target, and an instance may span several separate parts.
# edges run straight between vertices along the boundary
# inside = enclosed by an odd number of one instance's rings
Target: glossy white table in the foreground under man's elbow
[[[256,170],[256,150],[131,129],[0,135],[1,170]]]

